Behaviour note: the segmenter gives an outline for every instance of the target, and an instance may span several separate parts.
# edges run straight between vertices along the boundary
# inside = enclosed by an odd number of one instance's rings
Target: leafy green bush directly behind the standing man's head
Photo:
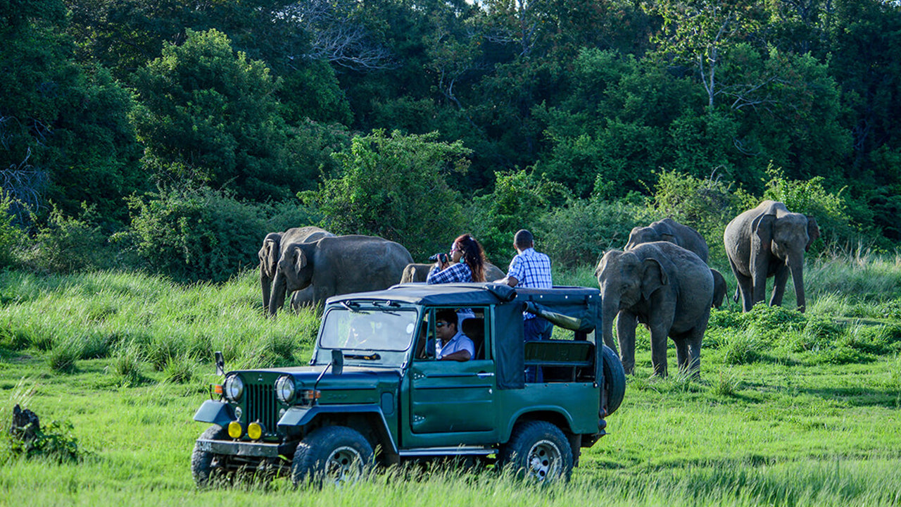
[[[539,176],[534,171],[496,173],[492,193],[472,199],[467,212],[470,230],[489,259],[507,259],[513,236],[519,229],[534,230],[542,216],[571,197],[568,189]],[[544,248],[544,238],[536,237],[536,248]]]

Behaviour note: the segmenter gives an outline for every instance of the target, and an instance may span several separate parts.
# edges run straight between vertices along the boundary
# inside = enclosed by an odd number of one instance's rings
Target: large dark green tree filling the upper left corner
[[[52,199],[68,215],[86,202],[123,220],[123,196],[146,180],[132,97],[105,69],[76,62],[64,14],[61,0],[0,3],[0,180],[39,215]]]

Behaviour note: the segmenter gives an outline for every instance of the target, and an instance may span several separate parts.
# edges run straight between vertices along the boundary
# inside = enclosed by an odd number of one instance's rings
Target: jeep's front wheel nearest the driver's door
[[[297,444],[291,462],[294,485],[352,484],[372,466],[369,440],[356,429],[325,426],[314,430]]]

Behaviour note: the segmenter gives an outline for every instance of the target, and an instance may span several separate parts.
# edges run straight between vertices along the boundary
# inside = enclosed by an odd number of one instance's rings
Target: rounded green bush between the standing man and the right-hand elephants
[[[607,250],[622,249],[633,226],[642,225],[644,207],[623,201],[572,199],[538,219],[533,234],[554,265],[595,265]]]

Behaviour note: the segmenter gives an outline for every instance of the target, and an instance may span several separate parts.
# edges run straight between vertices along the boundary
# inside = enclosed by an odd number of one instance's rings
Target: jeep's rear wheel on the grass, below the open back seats
[[[569,439],[560,428],[544,420],[516,424],[499,457],[505,472],[539,483],[569,481],[572,474]]]

